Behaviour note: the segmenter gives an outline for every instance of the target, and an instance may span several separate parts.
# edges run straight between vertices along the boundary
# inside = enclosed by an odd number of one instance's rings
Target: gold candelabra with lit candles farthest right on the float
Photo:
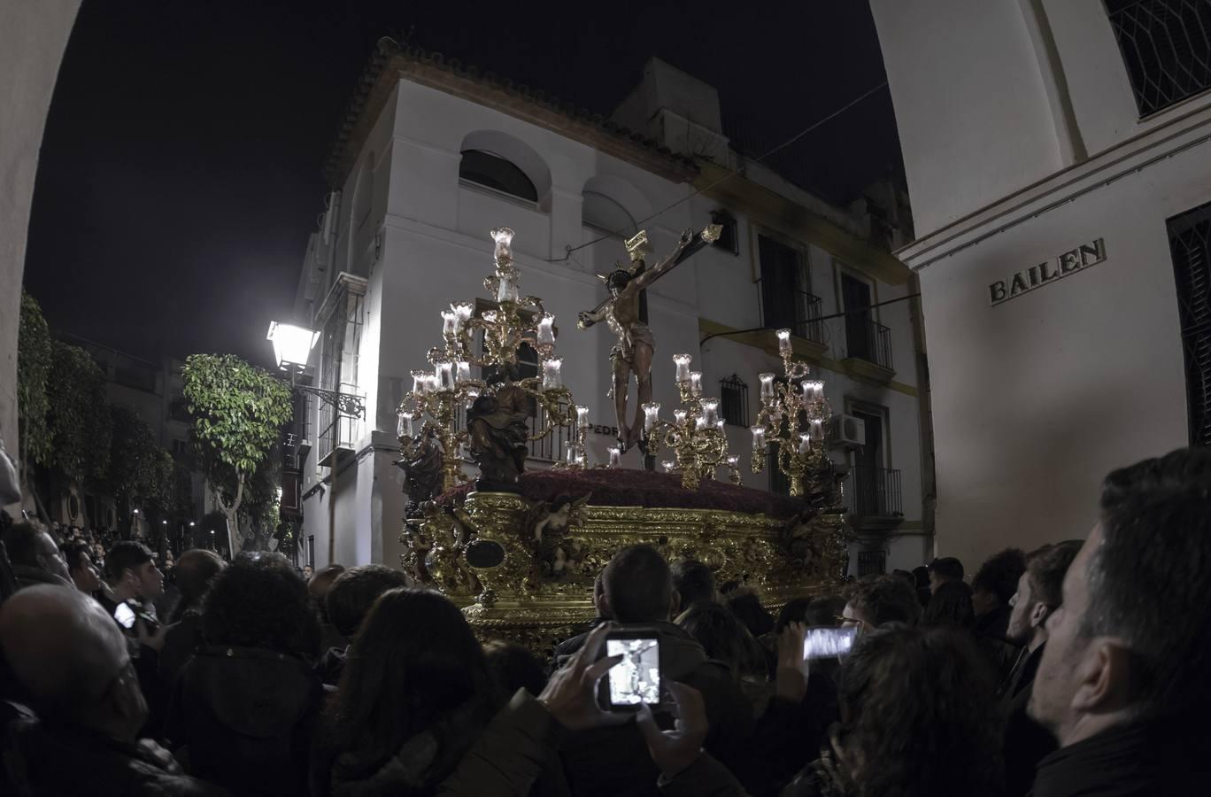
[[[777,331],[777,351],[782,357],[782,379],[773,373],[761,379],[761,412],[753,435],[752,470],[765,468],[770,443],[777,446],[777,468],[791,480],[791,495],[803,495],[805,474],[822,470],[828,458],[825,449],[825,424],[832,408],[825,398],[825,383],[808,379],[807,363],[793,360],[791,331]]]

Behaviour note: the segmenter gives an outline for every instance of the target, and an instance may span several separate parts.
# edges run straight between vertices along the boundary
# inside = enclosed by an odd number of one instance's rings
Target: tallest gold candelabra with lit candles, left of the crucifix
[[[457,302],[450,304],[449,310],[442,310],[443,345],[430,349],[427,356],[432,371],[412,372],[412,390],[400,405],[397,432],[401,451],[404,458],[413,458],[423,453],[421,447],[430,440],[436,440],[441,453],[442,491],[467,481],[463,465],[470,463],[463,448],[469,431],[457,425],[459,408],[470,408],[481,396],[497,395],[505,385],[516,385],[546,411],[545,425],[534,434],[527,432],[527,441],[541,440],[555,429],[575,423],[568,460],[562,466],[582,468],[585,463],[589,408],[573,408],[572,392],[563,385],[563,360],[555,354],[555,316],[546,313],[540,298],[522,296],[518,291],[512,237],[513,231],[509,228],[492,230],[495,270],[484,279],[483,286],[495,297],[497,309],[476,316],[470,302]],[[474,352],[477,331],[483,333],[482,357]],[[515,382],[517,352],[523,344],[529,344],[538,352],[541,373]],[[488,383],[474,378],[472,366],[497,368],[505,379]]]

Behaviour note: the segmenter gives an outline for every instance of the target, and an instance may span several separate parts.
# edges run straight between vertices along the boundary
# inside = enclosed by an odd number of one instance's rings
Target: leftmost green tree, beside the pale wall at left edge
[[[17,337],[17,418],[22,481],[28,465],[50,464],[51,432],[46,385],[51,374],[51,331],[38,300],[21,294],[21,327]]]

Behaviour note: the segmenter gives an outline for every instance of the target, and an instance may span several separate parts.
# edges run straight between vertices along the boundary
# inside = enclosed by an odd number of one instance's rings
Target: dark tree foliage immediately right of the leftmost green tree
[[[54,340],[46,389],[51,465],[80,482],[104,481],[113,434],[105,374],[87,351]]]

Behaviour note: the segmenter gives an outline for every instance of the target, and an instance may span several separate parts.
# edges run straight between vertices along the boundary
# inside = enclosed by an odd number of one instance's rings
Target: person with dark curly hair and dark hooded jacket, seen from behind
[[[234,793],[303,793],[321,695],[306,585],[280,554],[241,554],[211,581],[201,629],[166,735],[191,774]]]

